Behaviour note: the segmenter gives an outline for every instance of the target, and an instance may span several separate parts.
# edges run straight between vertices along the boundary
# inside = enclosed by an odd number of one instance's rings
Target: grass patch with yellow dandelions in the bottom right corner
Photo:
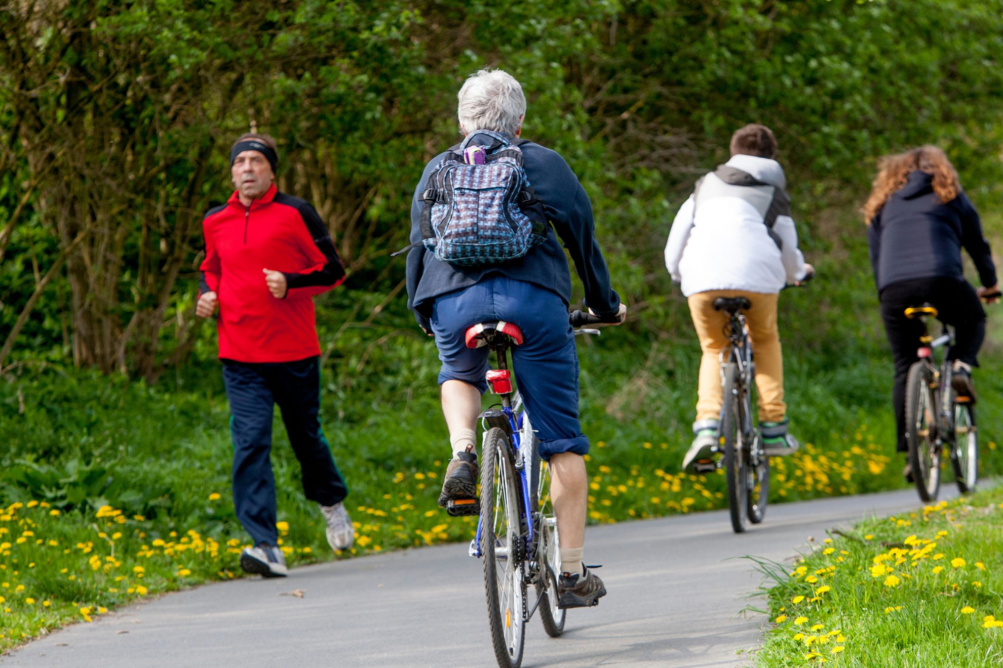
[[[762,668],[1003,662],[1003,488],[873,519],[812,546],[773,582]]]

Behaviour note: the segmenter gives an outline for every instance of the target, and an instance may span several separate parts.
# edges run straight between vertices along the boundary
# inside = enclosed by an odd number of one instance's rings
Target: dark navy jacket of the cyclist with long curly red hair
[[[949,202],[934,193],[933,174],[914,171],[892,193],[868,227],[878,291],[914,278],[964,279],[961,249],[975,262],[986,287],[996,284],[989,242],[979,214],[964,192]]]

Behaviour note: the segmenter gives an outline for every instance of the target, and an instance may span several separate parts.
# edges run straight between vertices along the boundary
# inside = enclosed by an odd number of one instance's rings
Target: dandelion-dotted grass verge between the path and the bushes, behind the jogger
[[[826,248],[817,264],[819,278],[808,289],[785,291],[780,300],[786,399],[806,445],[774,460],[774,503],[904,486],[894,453],[892,364],[866,250],[855,237]],[[471,519],[448,520],[435,505],[450,452],[434,347],[402,299],[377,308],[384,298],[336,290],[318,303],[322,422],[357,523],[356,546],[337,558],[468,540],[473,531]],[[685,302],[666,284],[632,313],[627,325],[579,342],[582,422],[593,443],[590,521],[722,508],[722,476],[678,473],[691,439],[699,364]],[[0,593],[0,611],[10,609],[0,615],[0,650],[82,619],[80,608],[93,618],[99,607],[240,575],[237,553],[248,538],[230,499],[229,413],[213,335],[205,327],[193,364],[155,387],[29,360],[0,378],[0,508],[24,504],[7,513],[10,520],[0,518],[8,532],[0,541],[11,543],[0,550],[0,586],[23,586]],[[1001,472],[991,443],[1003,419],[999,350],[996,341],[987,343],[976,379],[983,476]],[[290,563],[336,558],[316,506],[303,498],[299,465],[278,419],[274,442]],[[29,509],[31,501],[48,506]],[[98,518],[105,506],[120,511],[124,523]],[[4,538],[24,537],[25,530],[35,536],[22,543]],[[157,539],[176,545],[154,546]],[[201,550],[191,547],[197,542]],[[145,569],[142,578],[136,566]],[[46,600],[48,607],[41,605]]]

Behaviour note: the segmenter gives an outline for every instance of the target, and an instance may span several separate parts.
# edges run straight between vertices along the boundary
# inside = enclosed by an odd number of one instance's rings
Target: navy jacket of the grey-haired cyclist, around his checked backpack
[[[482,139],[482,141],[481,141]],[[490,137],[475,136],[472,140],[488,145]],[[526,174],[544,203],[551,225],[547,240],[535,246],[519,259],[490,266],[454,266],[417,246],[407,254],[407,306],[425,329],[430,329],[435,297],[475,284],[481,278],[501,274],[525,280],[557,292],[571,303],[571,271],[561,247],[568,249],[585,287],[585,302],[597,315],[611,315],[620,308],[620,295],[610,284],[610,270],[596,240],[596,224],[592,203],[575,172],[560,154],[540,144],[520,145],[525,158]],[[428,174],[439,163],[445,151],[425,166],[411,200],[411,242],[421,241],[420,216],[424,202],[419,195],[425,190]],[[552,227],[553,225],[553,227]],[[556,232],[556,233],[555,233]],[[560,241],[558,240],[560,237]]]

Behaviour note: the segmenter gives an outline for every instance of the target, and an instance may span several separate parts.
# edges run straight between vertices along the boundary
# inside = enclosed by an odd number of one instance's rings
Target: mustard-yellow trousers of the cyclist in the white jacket
[[[745,322],[752,340],[755,359],[755,385],[759,391],[759,421],[783,421],[787,406],[783,403],[783,357],[776,329],[778,294],[745,290],[707,290],[689,297],[693,326],[700,339],[700,382],[697,390],[696,420],[717,420],[721,413],[721,376],[718,355],[728,348],[724,325],[728,315],[714,310],[719,296],[744,296],[752,304],[745,311]]]

